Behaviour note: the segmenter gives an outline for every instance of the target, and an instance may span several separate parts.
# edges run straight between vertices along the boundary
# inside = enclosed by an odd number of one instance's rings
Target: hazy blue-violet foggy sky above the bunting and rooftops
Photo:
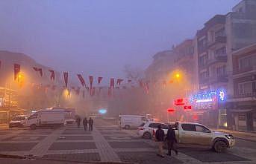
[[[122,77],[146,68],[240,0],[1,0],[0,50],[55,70]]]

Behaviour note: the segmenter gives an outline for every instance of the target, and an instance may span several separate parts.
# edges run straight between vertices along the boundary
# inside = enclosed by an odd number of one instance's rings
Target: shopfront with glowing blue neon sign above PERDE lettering
[[[227,110],[225,108],[225,91],[209,91],[195,94],[190,99],[193,116],[197,122],[210,128],[226,128]]]

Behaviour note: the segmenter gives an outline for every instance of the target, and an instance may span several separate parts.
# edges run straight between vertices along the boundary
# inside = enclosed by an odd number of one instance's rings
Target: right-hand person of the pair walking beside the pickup
[[[175,135],[175,131],[174,129],[172,128],[172,125],[169,125],[169,129],[167,131],[167,135],[166,135],[166,142],[167,142],[167,145],[168,145],[168,154],[169,156],[172,155],[172,150],[175,151],[176,155],[178,155],[178,151],[177,151],[177,148],[176,148],[176,143],[177,143],[177,140],[176,140],[176,135]]]

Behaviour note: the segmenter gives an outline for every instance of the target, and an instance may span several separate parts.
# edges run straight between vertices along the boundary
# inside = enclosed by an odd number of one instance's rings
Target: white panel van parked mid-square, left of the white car
[[[147,119],[138,115],[120,115],[119,127],[120,128],[138,128],[141,124],[146,123]]]

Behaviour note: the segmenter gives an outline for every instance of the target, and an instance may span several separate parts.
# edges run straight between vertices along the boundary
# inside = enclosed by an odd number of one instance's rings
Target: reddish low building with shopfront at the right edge
[[[234,130],[256,131],[256,44],[232,53],[233,92],[228,123]]]

